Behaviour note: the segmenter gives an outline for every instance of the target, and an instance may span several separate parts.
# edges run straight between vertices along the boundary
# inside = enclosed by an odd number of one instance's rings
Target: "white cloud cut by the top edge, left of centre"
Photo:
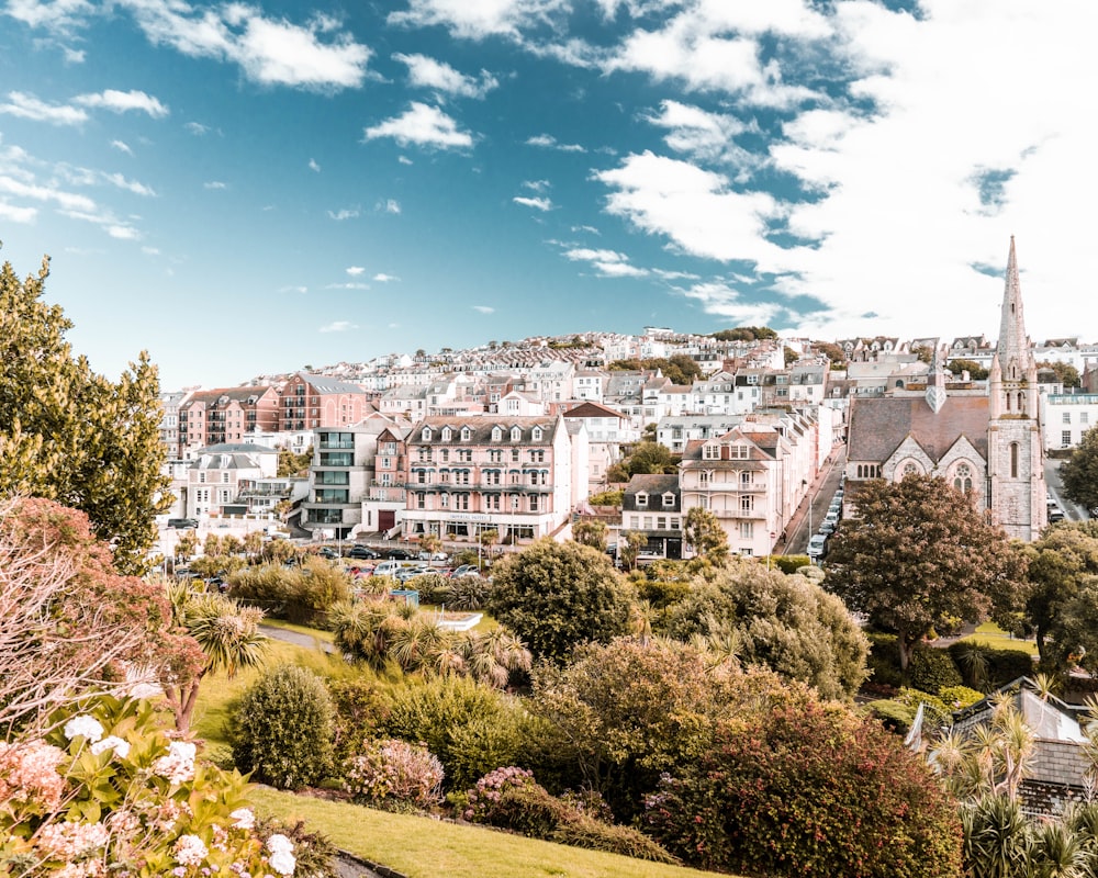
[[[471,40],[517,37],[523,27],[550,21],[567,9],[567,0],[410,0],[407,10],[389,14],[389,23],[441,25]]]

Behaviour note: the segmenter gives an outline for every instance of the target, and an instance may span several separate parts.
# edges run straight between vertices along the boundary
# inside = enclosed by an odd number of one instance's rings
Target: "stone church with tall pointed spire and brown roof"
[[[847,499],[870,479],[934,475],[968,492],[1007,536],[1038,539],[1047,516],[1037,364],[1010,238],[999,339],[987,386],[946,389],[937,352],[926,392],[850,403]]]

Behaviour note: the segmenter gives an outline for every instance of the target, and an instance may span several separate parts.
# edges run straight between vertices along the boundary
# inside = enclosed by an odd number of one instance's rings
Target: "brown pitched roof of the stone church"
[[[935,463],[962,436],[987,458],[988,399],[951,396],[935,414],[922,396],[853,398],[850,403],[852,461],[888,460],[908,436]]]

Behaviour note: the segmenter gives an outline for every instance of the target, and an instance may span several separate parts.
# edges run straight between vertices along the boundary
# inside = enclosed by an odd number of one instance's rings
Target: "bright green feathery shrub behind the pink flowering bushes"
[[[446,769],[447,788],[464,789],[517,758],[529,717],[523,702],[461,677],[402,686],[390,694],[381,734],[423,743]]]

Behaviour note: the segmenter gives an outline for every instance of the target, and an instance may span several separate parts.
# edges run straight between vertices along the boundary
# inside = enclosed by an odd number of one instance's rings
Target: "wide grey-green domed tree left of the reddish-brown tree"
[[[665,633],[733,637],[738,657],[825,698],[851,698],[866,676],[869,644],[842,601],[804,576],[733,559],[668,611]]]

